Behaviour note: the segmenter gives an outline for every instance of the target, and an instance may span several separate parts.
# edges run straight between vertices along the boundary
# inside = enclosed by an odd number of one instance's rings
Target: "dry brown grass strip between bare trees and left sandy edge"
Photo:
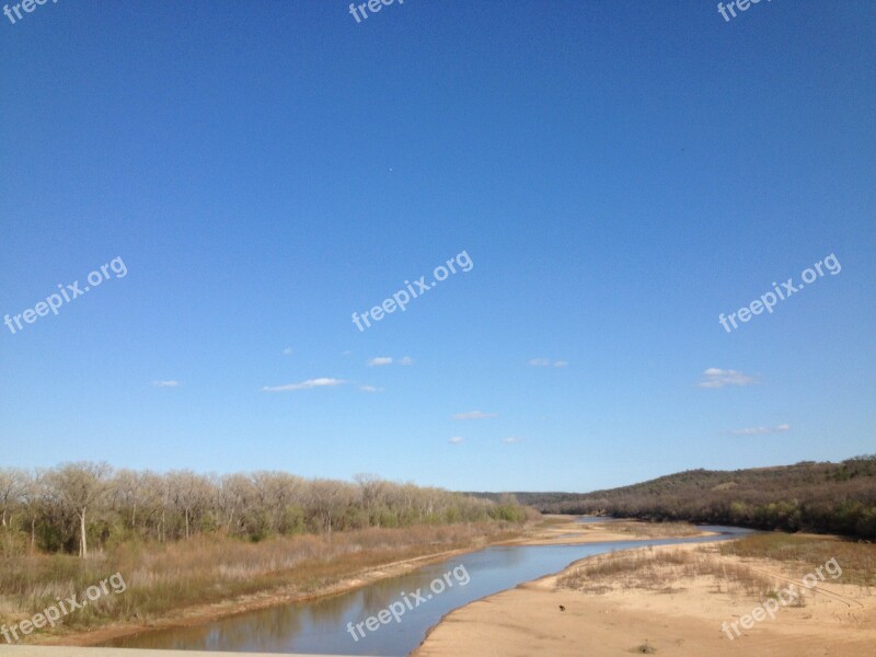
[[[493,523],[364,529],[333,535],[246,543],[220,535],[169,544],[126,544],[80,560],[37,555],[0,560],[0,622],[11,624],[78,595],[118,572],[127,590],[64,619],[85,629],[114,620],[146,621],[186,607],[280,589],[313,593],[368,568],[519,535]]]

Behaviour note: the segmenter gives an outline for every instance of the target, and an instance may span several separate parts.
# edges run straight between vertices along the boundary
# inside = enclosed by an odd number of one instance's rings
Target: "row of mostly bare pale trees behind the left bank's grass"
[[[115,470],[106,463],[0,469],[0,554],[88,556],[129,540],[178,541],[222,532],[276,534],[487,520],[535,514],[512,496],[479,499],[359,474],[354,482],[285,472],[226,475]]]

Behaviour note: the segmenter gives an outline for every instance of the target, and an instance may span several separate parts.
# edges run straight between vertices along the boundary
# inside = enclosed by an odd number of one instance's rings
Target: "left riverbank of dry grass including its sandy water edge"
[[[11,639],[95,645],[143,630],[187,626],[339,592],[382,576],[382,569],[395,573],[458,550],[511,540],[523,528],[506,522],[368,528],[275,537],[258,543],[217,534],[128,543],[88,560],[58,554],[4,558],[0,624],[13,627],[31,622],[35,614],[57,606],[58,598],[76,596],[82,601],[89,586],[117,573],[119,587],[111,595],[71,607],[54,629],[21,632]]]

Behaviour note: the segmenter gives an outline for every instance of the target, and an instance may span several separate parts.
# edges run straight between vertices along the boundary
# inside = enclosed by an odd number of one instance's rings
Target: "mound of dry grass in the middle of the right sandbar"
[[[770,577],[744,565],[716,560],[704,550],[653,548],[587,560],[561,576],[557,587],[592,593],[632,588],[673,592],[683,590],[678,588],[679,583],[692,577],[708,577],[717,591],[764,597],[773,590]]]

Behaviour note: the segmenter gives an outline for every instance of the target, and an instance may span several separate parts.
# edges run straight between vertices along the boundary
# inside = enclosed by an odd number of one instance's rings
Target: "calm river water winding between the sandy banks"
[[[749,533],[749,530],[734,527],[704,526],[702,529],[718,531],[721,537],[486,548],[330,598],[246,612],[195,627],[143,632],[105,645],[125,648],[383,657],[408,655],[425,638],[429,627],[436,625],[449,611],[525,581],[557,573],[585,556],[644,545],[726,540]],[[454,574],[443,577],[454,568]],[[442,591],[437,592],[441,587],[434,584],[436,579],[441,579],[445,584],[452,583],[453,586],[445,586]],[[419,599],[413,595],[417,589],[420,591]],[[406,606],[405,600],[408,602]],[[348,623],[354,626],[362,623],[394,602],[396,611],[400,607],[403,608],[397,614],[399,622],[390,618],[389,623],[378,624],[374,631],[361,626],[361,633],[349,629]],[[387,614],[383,618],[387,619]],[[371,626],[374,625],[376,622],[372,622]],[[356,639],[353,637],[354,633]]]

